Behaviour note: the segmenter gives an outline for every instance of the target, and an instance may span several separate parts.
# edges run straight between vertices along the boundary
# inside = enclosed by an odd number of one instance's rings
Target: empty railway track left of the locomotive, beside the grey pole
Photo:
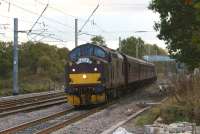
[[[63,92],[0,101],[0,117],[66,103]]]

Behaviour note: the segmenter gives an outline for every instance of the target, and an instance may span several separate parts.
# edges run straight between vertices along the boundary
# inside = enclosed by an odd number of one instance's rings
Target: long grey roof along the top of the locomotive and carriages
[[[126,55],[126,54],[124,54],[124,53],[120,53],[120,52],[118,52],[118,51],[116,51],[116,50],[114,50],[114,49],[108,48],[107,46],[95,45],[95,44],[92,44],[92,43],[86,43],[86,44],[83,44],[83,45],[80,45],[80,46],[84,46],[84,45],[93,45],[93,46],[97,46],[97,47],[102,48],[102,49],[103,49],[104,51],[106,51],[106,52],[116,53],[116,54],[119,54],[119,55],[125,55],[128,59],[134,60],[135,62],[138,62],[138,63],[140,63],[140,64],[154,66],[153,63],[150,63],[150,62],[147,62],[147,61],[144,61],[144,60],[141,60],[141,59],[137,59],[137,58],[128,56],[128,55]]]

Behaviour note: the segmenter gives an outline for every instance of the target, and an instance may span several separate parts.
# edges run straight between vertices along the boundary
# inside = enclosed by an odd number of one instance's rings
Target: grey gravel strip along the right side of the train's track
[[[109,108],[60,129],[53,134],[99,134],[141,109],[137,106],[139,102],[156,102],[162,98],[159,97],[156,84],[137,89],[132,95],[126,96],[125,99],[120,99],[118,103]]]

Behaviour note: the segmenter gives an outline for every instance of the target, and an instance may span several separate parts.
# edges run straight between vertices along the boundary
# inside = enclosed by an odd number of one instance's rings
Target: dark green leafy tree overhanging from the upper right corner
[[[200,8],[199,1],[152,0],[149,8],[160,14],[155,23],[158,38],[165,40],[172,57],[189,65],[200,65]]]

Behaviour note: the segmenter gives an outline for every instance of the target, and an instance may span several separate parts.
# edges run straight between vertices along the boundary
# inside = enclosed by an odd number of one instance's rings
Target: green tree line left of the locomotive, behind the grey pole
[[[0,42],[0,79],[12,76],[13,46],[11,42]],[[42,75],[56,79],[64,73],[69,50],[41,42],[26,42],[19,45],[20,76]]]

